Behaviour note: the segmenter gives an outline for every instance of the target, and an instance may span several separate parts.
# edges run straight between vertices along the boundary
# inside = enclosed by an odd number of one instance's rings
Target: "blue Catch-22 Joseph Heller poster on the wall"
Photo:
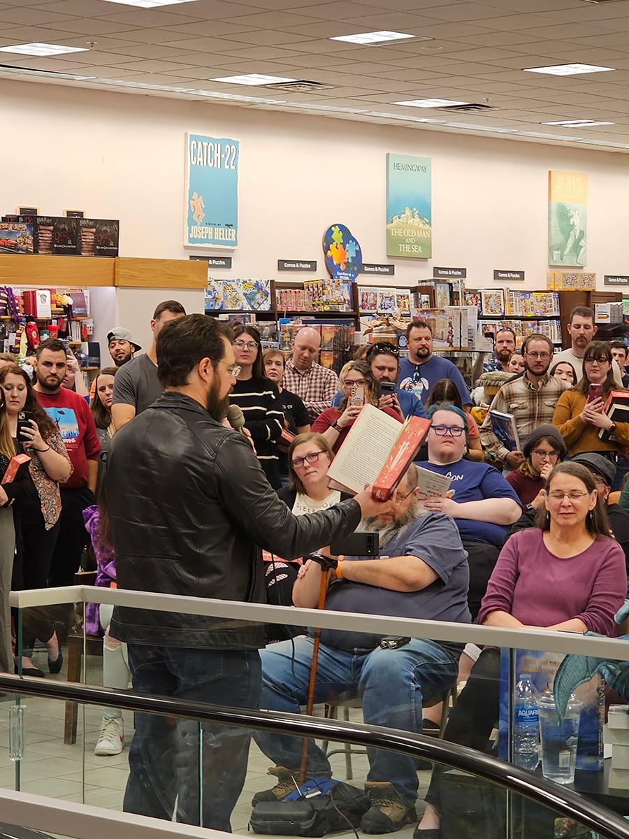
[[[240,143],[185,135],[184,244],[237,248]]]

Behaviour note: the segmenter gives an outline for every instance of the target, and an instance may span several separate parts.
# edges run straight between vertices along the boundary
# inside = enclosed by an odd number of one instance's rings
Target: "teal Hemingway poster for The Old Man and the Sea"
[[[430,158],[387,154],[387,257],[432,255]]]

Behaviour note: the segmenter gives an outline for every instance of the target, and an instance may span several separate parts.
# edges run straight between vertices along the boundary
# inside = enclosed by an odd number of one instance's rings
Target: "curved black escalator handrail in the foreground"
[[[629,839],[629,821],[625,821],[606,806],[476,749],[437,740],[434,737],[425,737],[422,734],[364,723],[331,719],[323,721],[320,717],[279,711],[234,709],[205,702],[133,693],[130,690],[43,681],[4,673],[0,674],[0,690],[6,690],[9,694],[41,696],[86,705],[115,706],[126,711],[214,722],[257,731],[288,733],[297,737],[335,740],[364,748],[387,749],[413,758],[443,763],[452,769],[477,775],[517,795],[524,795],[538,804],[558,810],[562,816],[579,821],[581,825],[606,836],[607,839]]]

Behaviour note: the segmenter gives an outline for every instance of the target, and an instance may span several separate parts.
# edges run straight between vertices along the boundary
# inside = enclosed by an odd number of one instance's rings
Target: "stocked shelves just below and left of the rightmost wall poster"
[[[517,347],[521,347],[524,338],[533,332],[548,336],[554,344],[561,345],[559,294],[556,292],[479,289],[476,294],[481,308],[477,349],[490,352],[496,331],[500,329],[512,329]]]

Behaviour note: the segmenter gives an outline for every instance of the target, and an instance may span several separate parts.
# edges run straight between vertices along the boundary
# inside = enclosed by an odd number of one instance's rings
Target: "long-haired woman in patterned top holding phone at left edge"
[[[36,492],[25,492],[23,482],[0,487],[0,505],[13,502],[21,569],[16,568],[13,587],[45,588],[50,559],[59,534],[61,497],[59,484],[67,481],[73,469],[64,441],[55,423],[39,404],[27,373],[15,364],[0,369],[0,440],[8,456],[27,454],[29,474]],[[19,550],[21,548],[21,550]],[[11,563],[13,565],[13,562]],[[35,617],[38,616],[38,617]],[[24,612],[24,647],[32,647],[39,638],[48,650],[51,673],[59,673],[63,659],[55,627],[39,610]],[[24,656],[23,675],[43,676]]]

